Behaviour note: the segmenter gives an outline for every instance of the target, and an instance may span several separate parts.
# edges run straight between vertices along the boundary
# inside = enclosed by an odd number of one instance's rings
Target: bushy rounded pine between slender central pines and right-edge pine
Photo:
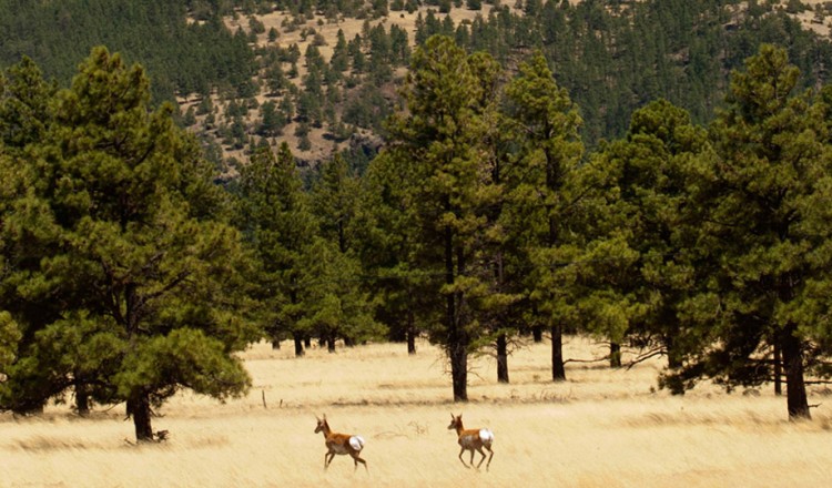
[[[605,148],[587,173],[603,187],[593,212],[589,247],[596,260],[581,268],[591,292],[581,306],[584,327],[609,339],[611,360],[625,337],[647,347],[643,358],[667,355],[680,365],[681,304],[692,292],[697,263],[689,248],[699,224],[690,218],[688,184],[693,162],[707,157],[707,132],[690,115],[658,100],[632,115],[625,140]]]

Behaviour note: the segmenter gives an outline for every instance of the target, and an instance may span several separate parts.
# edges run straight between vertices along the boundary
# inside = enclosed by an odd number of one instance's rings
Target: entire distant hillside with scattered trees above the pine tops
[[[0,0],[8,13],[0,19],[0,67],[29,55],[64,84],[92,45],[104,43],[148,69],[158,100],[175,96],[182,123],[225,177],[254,145],[282,141],[305,165],[343,152],[363,167],[379,146],[410,52],[436,33],[490,52],[509,72],[540,49],[578,104],[590,148],[623,134],[632,111],[656,98],[709,120],[730,71],[761,42],[789,48],[804,87],[831,72],[830,3],[821,0],[120,6]]]

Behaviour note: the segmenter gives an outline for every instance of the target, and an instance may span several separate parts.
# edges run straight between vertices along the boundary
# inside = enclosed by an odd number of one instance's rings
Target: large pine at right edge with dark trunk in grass
[[[804,376],[822,376],[832,268],[829,105],[797,93],[799,70],[764,44],[734,71],[727,110],[711,125],[716,157],[699,167],[698,242],[712,268],[687,303],[690,340],[678,380],[728,388],[779,378],[790,419],[809,418]]]

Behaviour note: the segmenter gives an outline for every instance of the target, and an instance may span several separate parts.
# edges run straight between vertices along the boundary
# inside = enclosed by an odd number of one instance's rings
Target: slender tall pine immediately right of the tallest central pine
[[[568,232],[570,209],[582,194],[572,186],[584,146],[578,135],[580,118],[566,90],[552,78],[542,53],[520,64],[519,74],[506,88],[509,118],[517,136],[519,175],[513,185],[516,205],[525,207],[525,227],[532,235],[529,274],[532,299],[551,333],[552,379],[566,379],[562,334],[570,321],[569,283],[562,264],[576,258],[574,234]],[[572,190],[570,190],[572,189]]]

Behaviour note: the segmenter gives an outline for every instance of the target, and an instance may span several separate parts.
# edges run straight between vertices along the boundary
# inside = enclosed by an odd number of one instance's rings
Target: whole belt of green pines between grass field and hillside
[[[806,385],[831,373],[832,88],[795,44],[755,44],[712,111],[645,93],[595,139],[546,44],[434,33],[400,58],[363,166],[298,166],[276,135],[232,181],[141,63],[94,47],[62,84],[23,57],[0,77],[0,409],[125,403],[150,440],[177,392],[246,392],[236,353],[264,338],[302,356],[427,337],[466,401],[471,355],[508,383],[516,339],[547,335],[560,382],[562,337],[586,334],[612,367],[622,346],[666,357],[673,393],[784,385],[789,418],[811,418]]]

